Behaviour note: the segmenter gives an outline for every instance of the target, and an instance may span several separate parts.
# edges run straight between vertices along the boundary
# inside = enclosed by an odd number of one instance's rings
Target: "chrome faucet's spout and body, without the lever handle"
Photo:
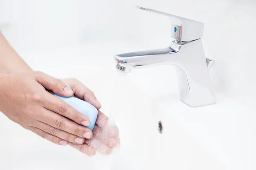
[[[198,107],[215,103],[208,72],[214,61],[204,57],[201,39],[173,41],[167,48],[118,54],[114,58],[116,68],[125,72],[157,65],[175,65],[180,99],[185,104]]]

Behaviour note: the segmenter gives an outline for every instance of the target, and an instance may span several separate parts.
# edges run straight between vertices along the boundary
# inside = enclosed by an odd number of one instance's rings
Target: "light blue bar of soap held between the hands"
[[[90,126],[88,126],[88,128],[90,130],[93,130],[94,125],[96,123],[97,116],[98,116],[98,109],[96,109],[90,103],[85,102],[84,100],[78,99],[76,97],[62,97],[62,96],[58,96],[57,94],[54,94],[54,95],[61,98],[67,104],[75,108],[77,111],[87,116],[90,119]]]

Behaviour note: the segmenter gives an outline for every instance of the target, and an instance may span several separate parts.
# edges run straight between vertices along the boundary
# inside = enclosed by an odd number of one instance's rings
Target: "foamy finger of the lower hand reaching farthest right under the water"
[[[98,139],[101,143],[107,144],[110,147],[117,147],[120,144],[119,137],[112,137],[108,133],[102,131],[98,125],[95,125],[93,128],[93,137]]]

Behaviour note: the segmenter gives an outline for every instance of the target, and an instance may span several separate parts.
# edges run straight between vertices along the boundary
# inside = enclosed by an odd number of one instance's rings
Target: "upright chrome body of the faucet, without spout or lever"
[[[180,48],[180,52],[182,51],[190,51],[190,56],[195,57],[180,57],[182,65],[176,67],[181,101],[190,107],[215,104],[208,72],[214,61],[204,57],[201,39],[183,45]]]

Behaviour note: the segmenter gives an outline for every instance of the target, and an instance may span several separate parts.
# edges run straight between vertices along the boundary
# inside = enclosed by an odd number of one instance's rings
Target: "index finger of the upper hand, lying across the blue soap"
[[[45,95],[44,108],[58,113],[61,116],[67,117],[80,125],[90,125],[90,119],[88,119],[87,116],[68,105],[64,100],[52,94]]]

